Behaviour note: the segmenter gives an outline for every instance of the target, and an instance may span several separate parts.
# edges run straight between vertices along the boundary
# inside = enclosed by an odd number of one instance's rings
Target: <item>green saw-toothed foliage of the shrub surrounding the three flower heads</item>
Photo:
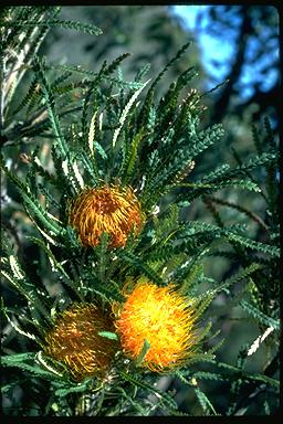
[[[182,71],[158,97],[159,82],[189,43],[154,80],[145,78],[144,68],[134,82],[124,81],[120,66],[127,54],[105,60],[97,72],[77,73],[72,66],[63,71],[36,54],[49,29],[55,24],[91,34],[98,30],[63,21],[59,13],[53,7],[8,7],[1,12],[2,365],[9,370],[2,392],[10,400],[6,414],[249,414],[259,392],[264,399],[261,413],[276,412],[279,181],[269,119],[262,138],[253,130],[252,158],[242,160],[235,151],[235,166],[220,163],[198,174],[202,153],[221,146],[224,129],[221,124],[200,129],[201,95],[188,92],[195,70]],[[23,73],[30,75],[30,85],[19,98]],[[20,160],[11,160],[11,149]],[[264,180],[258,179],[259,169]],[[123,248],[107,248],[105,233],[97,246],[84,247],[70,226],[70,205],[83,188],[112,183],[134,189],[146,223]],[[227,190],[239,192],[239,199],[252,191],[266,203],[268,219],[263,222],[226,200]],[[197,203],[208,209],[214,223],[182,219]],[[222,220],[221,206],[237,211],[235,224]],[[242,214],[263,236],[249,235],[238,218]],[[229,261],[224,278],[214,279],[205,269],[206,261],[216,256]],[[108,314],[114,303],[123,305],[125,283],[140,278],[157,286],[174,283],[197,310],[202,342],[186,363],[167,371],[189,388],[195,396],[191,409],[179,407],[174,391],[158,388],[160,375],[140,367],[150,349],[146,340],[138,361],[125,358],[120,349],[103,380],[93,377],[80,383],[42,351],[57,312],[72,303],[95,303]],[[242,308],[241,318],[253,320],[262,335],[258,343],[239,351],[234,364],[218,358],[220,348],[230,349],[226,339],[213,340],[221,336],[217,319],[224,311],[213,307],[220,296],[226,296],[227,308]],[[102,337],[116,336],[106,331]],[[269,349],[268,364],[252,373],[245,364],[261,344]],[[202,380],[228,384],[226,410],[213,404]],[[19,388],[24,393],[17,396]]]

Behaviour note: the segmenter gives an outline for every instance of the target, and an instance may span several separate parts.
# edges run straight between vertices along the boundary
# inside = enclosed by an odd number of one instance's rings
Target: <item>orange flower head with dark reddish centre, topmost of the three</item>
[[[130,187],[86,189],[71,206],[70,224],[84,246],[99,244],[105,232],[109,235],[108,247],[122,247],[132,231],[138,234],[143,223],[140,203]]]

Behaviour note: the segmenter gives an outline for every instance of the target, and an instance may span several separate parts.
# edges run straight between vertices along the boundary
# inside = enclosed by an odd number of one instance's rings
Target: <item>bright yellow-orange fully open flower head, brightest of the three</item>
[[[115,305],[113,309],[115,312]],[[137,360],[145,340],[149,342],[143,367],[153,371],[178,367],[193,351],[193,311],[172,285],[138,283],[116,315],[115,327],[126,356]]]

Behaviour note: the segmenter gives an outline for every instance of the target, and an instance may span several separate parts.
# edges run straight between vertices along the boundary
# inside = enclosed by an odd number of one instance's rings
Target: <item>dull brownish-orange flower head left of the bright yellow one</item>
[[[113,321],[94,304],[74,304],[59,315],[54,328],[45,335],[43,350],[64,363],[76,381],[103,377],[117,350],[117,341],[99,336],[114,331]]]

